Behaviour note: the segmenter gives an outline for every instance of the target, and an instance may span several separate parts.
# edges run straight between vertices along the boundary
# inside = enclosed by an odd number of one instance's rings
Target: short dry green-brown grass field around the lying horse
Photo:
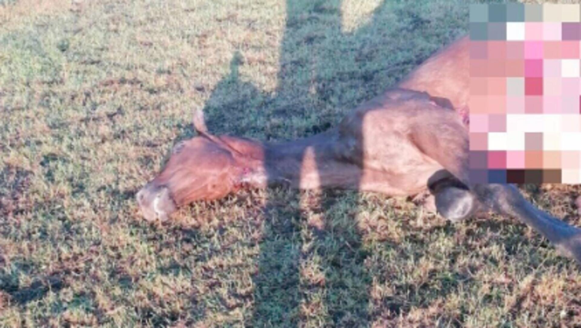
[[[467,15],[463,0],[0,0],[0,326],[581,326],[579,266],[511,218],[285,188],[164,224],[138,212],[193,108],[214,133],[318,133]],[[522,190],[581,226],[581,187]]]

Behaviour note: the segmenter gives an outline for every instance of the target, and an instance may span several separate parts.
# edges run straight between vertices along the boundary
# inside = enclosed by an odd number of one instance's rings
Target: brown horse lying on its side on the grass
[[[148,220],[242,187],[349,188],[386,195],[431,192],[437,212],[458,221],[492,209],[514,216],[581,261],[581,230],[540,211],[510,184],[468,180],[467,37],[444,48],[396,88],[358,106],[338,127],[301,140],[264,143],[210,134],[175,146],[166,167],[137,193]]]

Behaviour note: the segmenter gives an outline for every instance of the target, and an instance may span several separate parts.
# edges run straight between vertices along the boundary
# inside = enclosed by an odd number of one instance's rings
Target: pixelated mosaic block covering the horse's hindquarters
[[[581,5],[470,7],[470,180],[581,183]]]

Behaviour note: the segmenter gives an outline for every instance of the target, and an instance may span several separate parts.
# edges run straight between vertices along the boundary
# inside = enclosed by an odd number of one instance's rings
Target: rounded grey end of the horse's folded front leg
[[[474,213],[476,201],[468,190],[456,187],[436,192],[437,212],[451,222],[460,222]]]

